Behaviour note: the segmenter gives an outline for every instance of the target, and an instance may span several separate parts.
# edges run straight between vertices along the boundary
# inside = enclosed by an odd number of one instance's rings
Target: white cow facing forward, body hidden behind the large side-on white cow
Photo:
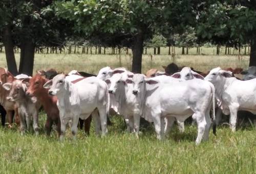
[[[134,75],[136,76],[136,74]],[[111,78],[105,80],[110,84],[109,93],[114,95],[118,112],[124,116],[127,131],[135,132],[139,138],[140,126],[140,100],[143,100],[138,91],[133,90],[132,81],[128,79],[127,73],[116,73]]]

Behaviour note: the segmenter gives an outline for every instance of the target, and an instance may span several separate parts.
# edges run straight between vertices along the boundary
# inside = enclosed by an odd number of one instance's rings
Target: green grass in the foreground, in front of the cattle
[[[21,136],[16,130],[0,128],[0,167],[3,173],[255,173],[255,127],[217,129],[209,141],[195,145],[196,126],[175,127],[163,141],[156,139],[153,127],[143,130],[140,139],[126,133],[122,119],[112,117],[113,126],[104,138],[94,128],[85,137],[79,130],[76,141],[70,130],[59,142],[56,132],[46,137],[40,115],[40,135]]]

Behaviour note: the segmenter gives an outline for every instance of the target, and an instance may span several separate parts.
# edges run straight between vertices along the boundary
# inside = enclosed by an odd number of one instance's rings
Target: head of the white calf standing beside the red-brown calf
[[[44,88],[49,89],[48,94],[57,95],[66,88],[65,74],[58,74],[52,80],[44,84]]]

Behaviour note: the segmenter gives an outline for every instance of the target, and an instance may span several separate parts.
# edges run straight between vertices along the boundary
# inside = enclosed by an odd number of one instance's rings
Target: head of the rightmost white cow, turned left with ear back
[[[222,70],[220,67],[218,67],[218,68],[212,69],[209,72],[209,74],[204,78],[204,80],[215,83],[223,79],[223,77],[232,77],[232,72]]]

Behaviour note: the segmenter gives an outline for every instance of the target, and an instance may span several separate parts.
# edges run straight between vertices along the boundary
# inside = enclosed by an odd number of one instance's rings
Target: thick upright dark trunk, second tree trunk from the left
[[[33,75],[35,44],[32,38],[26,38],[21,42],[19,74]]]

